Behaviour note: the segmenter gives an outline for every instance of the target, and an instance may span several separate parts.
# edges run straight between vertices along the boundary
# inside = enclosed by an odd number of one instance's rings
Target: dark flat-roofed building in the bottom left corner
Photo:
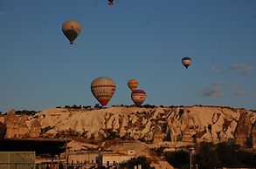
[[[69,140],[66,139],[1,139],[0,140],[0,152],[3,157],[15,157],[18,160],[18,164],[24,163],[23,167],[16,167],[17,160],[13,161],[12,159],[4,158],[4,161],[0,161],[0,163],[5,163],[3,166],[6,168],[26,168],[26,165],[30,165],[30,169],[35,169],[37,166],[42,166],[42,164],[38,164],[38,157],[41,155],[49,154],[48,161],[51,164],[52,169],[58,168],[59,166],[59,156],[60,153],[66,152],[66,144]],[[7,154],[7,155],[6,155]],[[28,155],[34,154],[34,156]],[[29,157],[29,158],[27,158]],[[37,159],[33,159],[33,157],[37,157]],[[54,157],[57,157],[57,161],[53,161]],[[19,159],[18,159],[19,158]],[[32,159],[33,161],[27,162],[28,160],[24,159]],[[41,159],[41,158],[39,158]],[[6,162],[7,161],[7,162]],[[42,163],[44,161],[41,161]],[[34,164],[31,164],[34,163]],[[0,164],[1,166],[1,164]],[[14,167],[12,167],[14,166]],[[45,168],[45,167],[41,167]],[[0,169],[2,169],[0,167]]]

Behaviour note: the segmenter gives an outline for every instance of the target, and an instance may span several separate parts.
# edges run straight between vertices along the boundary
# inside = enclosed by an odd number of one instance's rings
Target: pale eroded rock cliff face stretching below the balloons
[[[255,148],[255,119],[255,111],[219,106],[113,106],[100,110],[54,108],[39,112],[32,118],[17,116],[12,111],[5,118],[5,137],[14,137],[15,132],[16,137],[75,135],[90,139],[120,137],[152,142],[234,141],[241,146],[247,146],[251,141]],[[39,132],[39,126],[42,132]],[[35,134],[28,134],[28,131]]]

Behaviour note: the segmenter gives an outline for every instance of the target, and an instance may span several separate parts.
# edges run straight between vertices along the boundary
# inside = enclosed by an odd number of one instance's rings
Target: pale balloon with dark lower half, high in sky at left
[[[62,31],[70,44],[73,44],[74,39],[80,35],[81,25],[77,21],[68,20],[62,24]]]

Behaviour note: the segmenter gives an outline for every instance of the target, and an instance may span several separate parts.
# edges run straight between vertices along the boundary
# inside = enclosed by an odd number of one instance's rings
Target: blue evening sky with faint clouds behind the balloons
[[[116,84],[108,106],[133,104],[135,78],[144,104],[256,109],[255,0],[1,0],[0,22],[1,112],[93,106],[102,76]]]

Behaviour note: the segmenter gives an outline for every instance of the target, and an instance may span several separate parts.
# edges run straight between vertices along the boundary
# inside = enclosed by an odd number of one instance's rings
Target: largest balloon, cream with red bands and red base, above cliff
[[[95,78],[91,84],[91,91],[100,104],[105,106],[114,95],[114,80],[107,77]]]

